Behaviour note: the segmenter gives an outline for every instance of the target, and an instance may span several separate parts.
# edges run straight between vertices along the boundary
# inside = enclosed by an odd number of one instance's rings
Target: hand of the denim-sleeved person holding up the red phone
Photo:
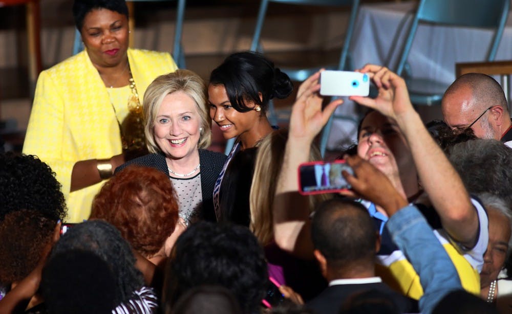
[[[388,177],[358,155],[344,156],[347,164],[354,170],[355,176],[346,170],[342,172],[351,190],[342,191],[346,196],[360,196],[382,207],[389,216],[408,205],[407,200],[398,193]]]

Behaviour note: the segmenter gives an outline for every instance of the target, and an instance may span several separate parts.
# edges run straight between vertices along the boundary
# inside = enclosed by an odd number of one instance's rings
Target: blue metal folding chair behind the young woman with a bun
[[[349,61],[349,49],[350,49],[350,41],[352,39],[352,33],[354,30],[355,19],[357,17],[357,11],[359,8],[359,0],[262,0],[260,4],[260,10],[258,11],[258,17],[256,21],[256,27],[254,29],[254,35],[252,37],[251,43],[251,51],[257,51],[260,53],[264,53],[263,46],[261,44],[260,38],[263,29],[263,24],[265,22],[265,16],[267,14],[268,3],[282,3],[282,4],[290,4],[290,5],[308,5],[308,6],[332,6],[332,7],[351,7],[349,23],[347,26],[347,32],[345,35],[345,39],[343,41],[343,47],[340,52],[338,64],[325,64],[322,66],[323,68],[329,70],[346,70],[351,69]],[[281,68],[281,71],[288,74],[292,81],[302,82],[307,79],[310,75],[318,71],[321,67],[318,66],[316,68],[307,68],[307,69],[295,69],[295,68]],[[274,105],[272,102],[269,103],[268,107],[268,119],[272,125],[278,125],[279,122],[287,122],[289,120],[289,113],[283,113],[283,117],[279,117],[274,109]],[[321,136],[321,152],[322,155],[325,152],[327,145],[327,138],[329,136],[330,127],[332,124],[332,119],[345,119],[350,117],[345,116],[334,116],[331,117],[328,122],[328,127],[324,128],[322,136]],[[325,134],[324,134],[325,133]],[[325,140],[324,140],[325,138]],[[231,147],[234,144],[234,139],[228,140],[226,144],[226,154],[229,153]]]

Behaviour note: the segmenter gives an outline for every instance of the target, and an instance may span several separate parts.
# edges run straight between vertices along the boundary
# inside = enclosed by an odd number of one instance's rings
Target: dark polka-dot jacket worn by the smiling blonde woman
[[[223,153],[199,150],[199,163],[201,164],[201,193],[203,194],[203,212],[202,218],[209,221],[217,221],[214,210],[213,194],[214,185],[219,173],[226,162],[226,155]],[[121,171],[129,165],[141,165],[156,168],[166,175],[169,175],[169,169],[165,162],[163,154],[153,153],[139,158],[132,159],[116,168],[115,172]]]

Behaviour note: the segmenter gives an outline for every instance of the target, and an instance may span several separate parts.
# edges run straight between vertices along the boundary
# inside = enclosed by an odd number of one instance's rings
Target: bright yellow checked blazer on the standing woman
[[[168,53],[129,49],[127,54],[140,103],[157,76],[177,69]],[[88,219],[102,183],[70,193],[73,166],[111,158],[122,148],[109,94],[87,51],[39,75],[23,152],[39,156],[56,173],[67,200],[67,221]]]

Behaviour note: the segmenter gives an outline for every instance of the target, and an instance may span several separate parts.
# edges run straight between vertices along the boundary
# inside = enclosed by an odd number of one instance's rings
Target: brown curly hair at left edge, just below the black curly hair
[[[0,223],[0,282],[22,280],[35,268],[51,241],[56,221],[33,210],[5,215]]]

